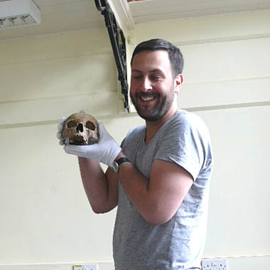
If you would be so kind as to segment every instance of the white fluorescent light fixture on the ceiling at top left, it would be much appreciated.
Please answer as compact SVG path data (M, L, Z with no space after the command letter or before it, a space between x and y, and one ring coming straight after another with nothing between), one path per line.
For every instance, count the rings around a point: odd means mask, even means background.
M41 11L32 0L0 0L0 30L41 23Z

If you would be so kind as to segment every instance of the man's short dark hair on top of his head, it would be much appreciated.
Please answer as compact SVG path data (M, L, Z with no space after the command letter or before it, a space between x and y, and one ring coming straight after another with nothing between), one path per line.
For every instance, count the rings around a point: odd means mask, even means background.
M160 38L154 38L149 41L143 41L139 43L138 45L136 45L136 48L134 49L134 52L132 54L131 65L134 56L144 50L166 50L171 61L173 77L176 77L178 74L182 73L184 65L183 55L180 50L175 47L175 45L173 45L171 42L165 41Z

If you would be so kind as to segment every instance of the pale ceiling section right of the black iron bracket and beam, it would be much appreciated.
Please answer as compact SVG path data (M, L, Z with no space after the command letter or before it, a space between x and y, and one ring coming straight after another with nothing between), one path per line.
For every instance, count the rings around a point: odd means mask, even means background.
M146 0L129 3L134 23L269 9L269 0Z

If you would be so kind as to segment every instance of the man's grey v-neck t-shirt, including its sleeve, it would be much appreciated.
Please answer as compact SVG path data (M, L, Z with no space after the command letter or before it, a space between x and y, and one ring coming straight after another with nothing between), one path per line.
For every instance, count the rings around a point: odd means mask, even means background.
M145 133L146 126L139 126L124 139L122 151L131 163L149 179L155 159L174 162L185 168L194 182L171 220L152 226L126 197L119 181L113 242L115 269L200 269L212 174L207 127L195 114L180 110L161 126L147 145Z

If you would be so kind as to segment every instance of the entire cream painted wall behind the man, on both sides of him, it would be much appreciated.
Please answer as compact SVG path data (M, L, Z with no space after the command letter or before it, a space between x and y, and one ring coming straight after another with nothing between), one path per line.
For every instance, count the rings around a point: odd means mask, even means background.
M159 37L183 51L179 106L205 120L215 151L205 257L227 258L229 270L270 265L269 15L137 25L128 44ZM0 269L112 270L115 210L92 213L77 160L55 138L58 119L82 108L119 143L143 124L119 106L107 31L1 42L0 100Z

